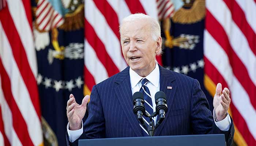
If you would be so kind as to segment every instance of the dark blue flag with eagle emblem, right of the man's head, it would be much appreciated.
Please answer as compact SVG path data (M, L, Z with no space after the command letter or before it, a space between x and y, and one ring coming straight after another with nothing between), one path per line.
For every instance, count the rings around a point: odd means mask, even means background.
M176 1L173 1L177 5ZM162 19L163 66L196 78L206 94L210 110L213 99L204 88L203 32L205 1L184 1L168 19ZM178 5L180 6L180 5Z

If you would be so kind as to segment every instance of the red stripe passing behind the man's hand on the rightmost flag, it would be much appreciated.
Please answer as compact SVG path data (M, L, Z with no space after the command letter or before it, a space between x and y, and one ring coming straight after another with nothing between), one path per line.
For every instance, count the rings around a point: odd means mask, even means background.
M227 87L230 89L230 87L227 85L226 81L222 77L222 75L218 72L218 70L214 67L214 65L211 64L211 62L207 59L207 57L204 56L205 61L205 73L209 75L209 77L212 79L212 81L217 84L218 82L222 83L222 87ZM233 93L231 93L233 96L235 96ZM236 124L237 129L241 133L242 138L246 141L248 145L255 145L256 141L252 137L250 131L248 130L248 126L245 123L245 120L242 118L241 114L236 110L236 107L233 105L233 96L231 97L231 104L230 108L232 111L232 119ZM237 131L236 131L237 132ZM236 134L236 133L235 133ZM244 136L246 135L246 136ZM254 143L254 144L253 144Z

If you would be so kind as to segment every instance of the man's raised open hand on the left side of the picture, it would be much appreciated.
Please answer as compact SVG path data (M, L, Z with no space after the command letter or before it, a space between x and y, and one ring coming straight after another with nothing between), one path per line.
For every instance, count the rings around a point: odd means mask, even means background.
M82 119L86 112L86 105L90 99L89 95L83 98L82 104L76 103L73 94L69 95L69 100L67 102L67 117L69 122L69 130L79 130L82 127Z

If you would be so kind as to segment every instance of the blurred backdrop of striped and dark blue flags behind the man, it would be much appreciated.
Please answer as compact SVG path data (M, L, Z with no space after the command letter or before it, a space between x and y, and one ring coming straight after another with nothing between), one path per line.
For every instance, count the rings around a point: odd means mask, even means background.
M231 92L234 145L256 145L256 0L0 0L0 146L65 146L66 104L123 70L118 27L159 20L160 65Z

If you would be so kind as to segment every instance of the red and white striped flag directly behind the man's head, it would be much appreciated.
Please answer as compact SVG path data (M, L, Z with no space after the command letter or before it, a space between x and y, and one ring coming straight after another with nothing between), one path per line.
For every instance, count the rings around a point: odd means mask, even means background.
M155 0L85 0L85 94L93 85L127 67L120 45L119 24L126 16L144 13L158 19ZM161 57L157 57L162 64Z

